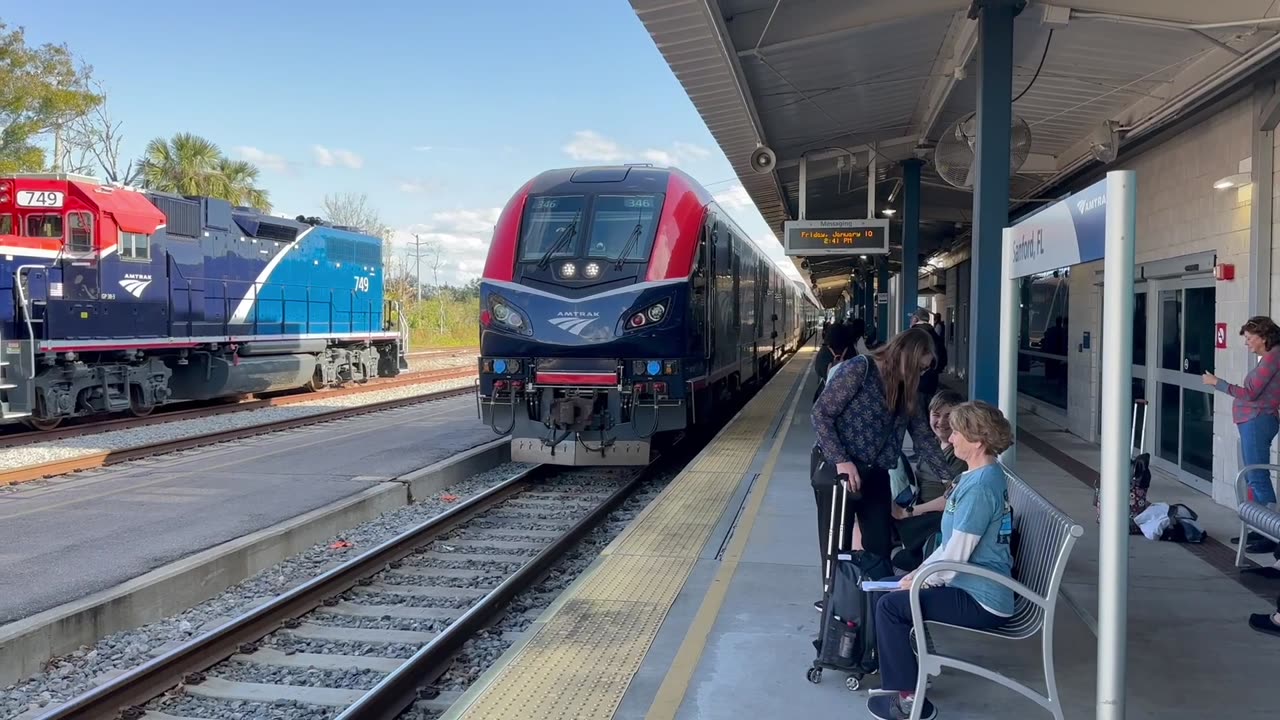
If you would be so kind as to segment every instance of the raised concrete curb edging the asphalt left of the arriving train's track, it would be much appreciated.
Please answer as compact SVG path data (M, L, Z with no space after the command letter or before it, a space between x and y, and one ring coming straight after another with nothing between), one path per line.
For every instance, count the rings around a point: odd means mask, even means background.
M498 438L256 533L210 547L113 588L0 626L0 688L49 659L198 605L334 534L403 507L511 456Z

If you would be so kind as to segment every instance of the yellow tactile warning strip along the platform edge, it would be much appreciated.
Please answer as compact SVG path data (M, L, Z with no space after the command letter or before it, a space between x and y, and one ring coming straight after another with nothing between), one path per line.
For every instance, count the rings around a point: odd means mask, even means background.
M458 720L613 717L778 409L795 410L788 396L810 352L803 348L605 548Z

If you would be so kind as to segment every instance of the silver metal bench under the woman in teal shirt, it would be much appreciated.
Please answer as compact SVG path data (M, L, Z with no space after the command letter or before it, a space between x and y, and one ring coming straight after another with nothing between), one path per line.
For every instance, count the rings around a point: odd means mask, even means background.
M927 691L929 676L940 675L942 667L955 667L979 675L1028 697L1044 710L1062 720L1062 702L1057 693L1057 680L1053 674L1053 614L1057 607L1057 591L1066 571L1066 560L1071 555L1075 541L1084 534L1084 528L1066 514L1039 496L1009 468L1001 464L1009 479L1009 503L1014 509L1014 528L1018 532L1018 555L1014 557L1016 580L1005 578L986 568L968 562L931 562L920 568L911 582L911 620L913 638L925 635L924 647L915 642L919 660L919 676L915 685L916 702L911 710L911 720L920 720L924 703L920 702ZM1014 591L1014 615L1009 623L995 630L974 630L959 628L970 633L1020 641L1041 633L1041 650L1044 664L1044 687L1048 694L1039 692L993 670L966 662L964 660L940 655L933 650L928 626L920 612L920 588L934 573L966 573L988 578ZM928 621L932 625L951 626L945 623ZM924 632L919 630L924 628Z

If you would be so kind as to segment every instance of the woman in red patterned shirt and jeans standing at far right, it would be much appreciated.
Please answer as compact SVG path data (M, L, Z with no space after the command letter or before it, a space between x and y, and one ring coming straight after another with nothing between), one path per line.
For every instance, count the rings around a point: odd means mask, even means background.
M1265 315L1249 318L1240 327L1249 352L1261 356L1258 364L1244 375L1243 384L1230 384L1213 373L1204 373L1204 384L1235 398L1231 402L1231 420L1240 433L1240 455L1245 465L1271 462L1271 441L1280 430L1280 327ZM1276 492L1267 470L1249 470L1249 489L1253 501L1275 507ZM1245 552L1274 552L1276 543L1257 534L1236 538L1245 543Z

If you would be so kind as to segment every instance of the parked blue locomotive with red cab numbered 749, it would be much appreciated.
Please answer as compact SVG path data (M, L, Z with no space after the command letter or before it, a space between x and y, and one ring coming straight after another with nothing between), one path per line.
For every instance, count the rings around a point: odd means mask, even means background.
M67 174L0 177L0 416L396 375L381 240Z

